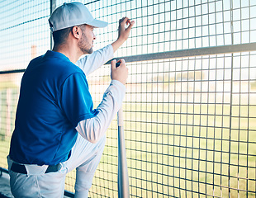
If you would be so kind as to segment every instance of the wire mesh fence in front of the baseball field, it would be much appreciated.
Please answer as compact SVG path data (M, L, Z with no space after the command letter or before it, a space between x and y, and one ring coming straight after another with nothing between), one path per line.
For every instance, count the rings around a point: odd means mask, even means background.
M1 167L7 167L14 127L22 75L16 70L50 49L51 2L0 2ZM135 20L130 39L115 54L126 57L130 71L123 105L130 196L255 197L256 2L80 2L109 22L96 30L96 49L116 40L121 17ZM94 106L109 73L106 64L88 76ZM66 190L73 191L74 181L70 172ZM116 120L90 196L117 196Z

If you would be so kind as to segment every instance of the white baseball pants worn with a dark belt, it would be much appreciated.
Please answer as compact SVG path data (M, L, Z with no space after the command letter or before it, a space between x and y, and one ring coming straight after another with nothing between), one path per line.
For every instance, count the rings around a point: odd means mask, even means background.
M75 197L88 197L88 191L92 186L92 178L97 165L102 157L106 136L103 136L96 144L88 142L78 134L69 160L61 163L58 172L45 174L48 166L27 165L27 174L12 172L12 159L7 157L10 174L10 186L15 197L50 197L64 196L64 182L68 172L76 168Z

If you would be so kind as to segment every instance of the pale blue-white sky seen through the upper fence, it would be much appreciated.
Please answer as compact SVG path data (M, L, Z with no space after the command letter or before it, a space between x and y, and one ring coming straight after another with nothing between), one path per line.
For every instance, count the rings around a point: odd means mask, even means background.
M57 6L63 2L57 1ZM109 22L107 28L95 31L95 50L116 40L117 22L122 16L135 20L130 39L115 54L117 57L256 42L254 0L80 2L88 4L97 19ZM0 69L26 68L32 45L36 45L37 55L50 50L50 1L5 0L0 7ZM250 63L254 60L255 55L251 55ZM255 64L248 63L245 60L241 67L254 71Z

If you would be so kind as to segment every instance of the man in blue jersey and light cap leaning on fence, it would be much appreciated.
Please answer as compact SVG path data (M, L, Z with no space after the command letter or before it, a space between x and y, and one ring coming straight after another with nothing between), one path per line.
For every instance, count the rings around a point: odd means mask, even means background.
M49 22L54 48L31 60L21 80L7 157L11 190L16 197L62 197L65 176L76 168L75 197L88 197L128 70L123 59L118 68L111 61L111 84L95 110L86 75L112 58L134 21L121 19L118 39L94 53L93 29L107 23L94 19L83 3L64 3ZM83 54L91 55L78 60Z

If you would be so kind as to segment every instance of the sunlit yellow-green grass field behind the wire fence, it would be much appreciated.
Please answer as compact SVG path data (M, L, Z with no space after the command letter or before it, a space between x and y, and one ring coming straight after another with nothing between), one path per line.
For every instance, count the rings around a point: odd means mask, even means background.
M232 106L231 120L227 105L137 103L124 111L132 197L229 197L229 182L231 197L255 197L255 106ZM91 197L117 197L116 121L107 136ZM9 141L0 142L5 168ZM74 177L67 176L69 191Z

